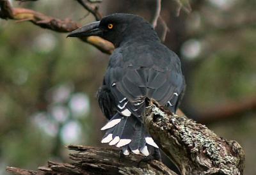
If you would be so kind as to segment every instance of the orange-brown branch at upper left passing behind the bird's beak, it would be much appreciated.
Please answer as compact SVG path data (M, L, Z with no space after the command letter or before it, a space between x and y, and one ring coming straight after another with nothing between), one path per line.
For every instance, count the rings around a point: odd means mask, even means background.
M36 26L51 29L52 31L57 31L60 33L67 33L81 27L81 24L77 24L70 19L60 20L44 15L38 11L33 11L26 8L12 8L8 0L0 0L0 8L0 18L2 19L13 19L17 20L17 22L30 21ZM113 52L115 49L112 43L98 36L84 37L80 39L97 47L97 49L106 54L111 54L111 52Z

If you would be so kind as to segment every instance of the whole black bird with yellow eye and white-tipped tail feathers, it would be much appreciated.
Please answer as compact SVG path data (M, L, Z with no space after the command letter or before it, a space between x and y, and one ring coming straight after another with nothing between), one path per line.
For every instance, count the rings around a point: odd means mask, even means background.
M101 142L122 148L124 155L152 155L158 146L141 114L150 100L176 112L185 89L179 57L137 15L115 13L68 36L100 36L115 45L98 93L100 108L109 119L101 128L106 130Z

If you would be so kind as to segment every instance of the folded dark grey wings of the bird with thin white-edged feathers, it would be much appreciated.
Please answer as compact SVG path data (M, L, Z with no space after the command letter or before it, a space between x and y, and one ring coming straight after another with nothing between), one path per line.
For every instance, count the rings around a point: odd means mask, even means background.
M111 57L105 80L115 97L116 110L125 116L140 116L145 109L145 98L149 98L175 112L184 89L179 66L172 65L171 61L159 66L150 56L140 60L141 65L134 60L125 60L120 53Z

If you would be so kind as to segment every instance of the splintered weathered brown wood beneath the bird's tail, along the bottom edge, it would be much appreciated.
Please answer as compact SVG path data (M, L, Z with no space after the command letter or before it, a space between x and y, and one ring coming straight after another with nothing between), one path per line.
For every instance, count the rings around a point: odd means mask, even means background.
M74 161L70 164L48 162L47 167L38 167L38 171L28 171L15 167L7 167L6 170L15 174L170 174L177 175L163 163L154 160L150 163L138 162L143 158L140 155L120 157L120 150L108 148L92 148L88 146L68 146L68 149L76 151L70 153Z

